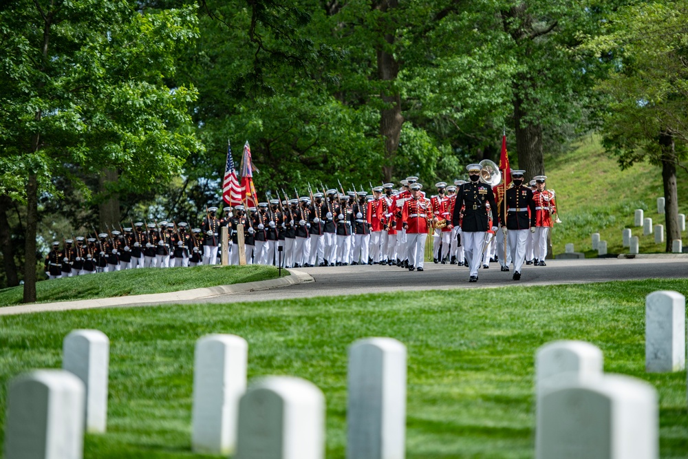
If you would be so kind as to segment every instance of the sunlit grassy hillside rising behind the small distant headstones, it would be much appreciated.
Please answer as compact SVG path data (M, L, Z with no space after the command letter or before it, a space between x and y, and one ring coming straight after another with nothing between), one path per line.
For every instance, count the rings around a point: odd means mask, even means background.
M547 187L557 193L562 221L552 231L554 253L563 253L564 246L572 242L577 252L596 256L592 233L600 233L601 239L607 241L608 253L628 253L628 248L622 247L623 228L631 228L633 235L640 238L641 253L665 252L665 243L655 244L654 235L643 236L642 226L633 226L635 209L643 209L653 225L665 225L665 216L657 213L657 198L664 195L660 167L642 163L622 171L616 158L605 153L595 137L575 147L568 153L545 158ZM688 212L688 175L681 170L678 211Z

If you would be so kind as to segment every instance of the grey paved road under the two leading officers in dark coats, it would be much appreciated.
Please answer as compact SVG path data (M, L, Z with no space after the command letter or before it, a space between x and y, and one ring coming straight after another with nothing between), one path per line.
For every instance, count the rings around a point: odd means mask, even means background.
M342 266L336 268L303 268L315 282L281 287L260 292L220 295L203 300L179 303L235 303L237 301L270 301L277 299L352 295L357 293L391 292L449 288L501 287L552 284L584 284L590 282L650 279L654 277L688 277L687 259L585 259L552 260L547 266L523 267L521 281L513 281L513 273L502 273L499 264L481 269L480 280L469 284L468 268L455 265L426 264L422 273L396 266ZM131 305L130 305L131 306Z

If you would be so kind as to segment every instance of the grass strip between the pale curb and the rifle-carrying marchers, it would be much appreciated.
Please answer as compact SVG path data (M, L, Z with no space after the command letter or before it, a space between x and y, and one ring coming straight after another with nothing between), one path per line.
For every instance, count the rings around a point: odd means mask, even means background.
M283 275L288 271L282 270ZM191 268L141 268L98 273L36 283L39 303L146 293L178 292L192 288L275 279L275 266L193 266ZM21 303L23 287L0 290L0 306Z

